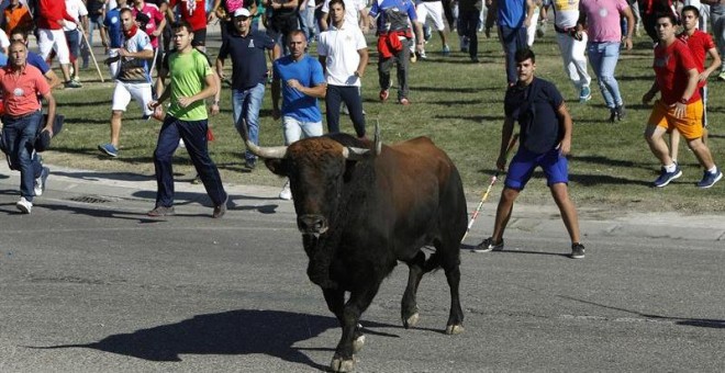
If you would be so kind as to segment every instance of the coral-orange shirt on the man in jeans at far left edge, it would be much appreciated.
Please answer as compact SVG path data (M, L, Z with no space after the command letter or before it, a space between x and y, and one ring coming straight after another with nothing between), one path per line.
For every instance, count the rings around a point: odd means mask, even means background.
M41 110L37 97L49 93L51 86L34 66L25 65L19 75L5 66L0 69L0 92L5 113L20 116Z

